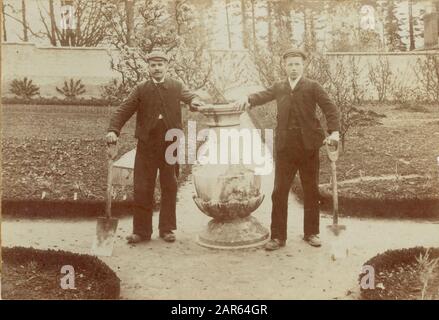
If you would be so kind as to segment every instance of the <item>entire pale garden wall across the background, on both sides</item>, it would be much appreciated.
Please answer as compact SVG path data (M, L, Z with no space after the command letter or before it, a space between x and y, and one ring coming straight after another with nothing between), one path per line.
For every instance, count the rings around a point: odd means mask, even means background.
M216 52L216 54L221 53ZM223 63L234 57L230 50L226 51ZM242 50L235 52L241 55ZM418 90L420 81L415 74L417 61L425 60L427 56L439 56L439 51L416 51L400 53L373 53L373 52L340 52L327 53L326 57L331 66L338 60L343 61L349 72L349 59L354 59L360 71L358 85L364 91L364 98L376 100L378 93L369 79L370 66L378 66L380 62L388 61L392 77L388 80L390 87L395 84L399 91L407 92L406 89ZM247 61L248 63L248 61ZM248 64L245 63L246 66ZM231 63L232 65L233 63ZM252 65L252 64L250 64ZM236 66L232 66L236 69ZM225 70L214 66L215 74L220 78L227 74ZM250 67L251 68L251 67ZM235 70L236 71L236 70ZM255 79L255 70L248 71ZM317 70L318 74L318 70ZM241 75L242 76L242 75ZM11 96L9 93L10 82L19 78L28 77L40 86L40 94L43 97L62 97L56 86L62 87L64 80L70 78L81 79L86 86L84 97L99 98L100 87L108 83L112 78L119 78L119 74L110 68L110 58L105 48L62 48L62 47L39 47L30 43L3 43L2 44L2 96ZM247 77L246 77L247 78ZM224 79L223 79L224 80ZM234 82L227 79L228 82ZM319 79L316 79L319 80ZM393 80L393 81L392 81ZM225 89L225 88L224 88ZM398 91L398 90L397 90ZM422 95L422 92L419 91ZM394 93L391 88L387 92L387 99L392 100Z

